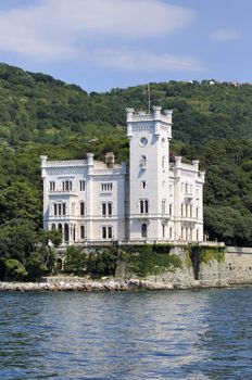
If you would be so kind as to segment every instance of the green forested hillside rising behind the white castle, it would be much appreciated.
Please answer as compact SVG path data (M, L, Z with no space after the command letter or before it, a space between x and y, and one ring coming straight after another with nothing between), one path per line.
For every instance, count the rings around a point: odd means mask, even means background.
M153 105L174 110L172 152L199 157L206 172L210 238L251 245L252 86L205 80L150 88ZM0 64L0 264L14 257L24 265L18 270L29 271L30 249L45 242L45 237L27 241L22 257L10 248L18 228L38 235L41 227L39 155L80 159L92 151L103 159L113 150L118 162L127 161L125 107L146 110L147 98L147 86L88 94L51 76ZM36 265L48 268L45 262Z

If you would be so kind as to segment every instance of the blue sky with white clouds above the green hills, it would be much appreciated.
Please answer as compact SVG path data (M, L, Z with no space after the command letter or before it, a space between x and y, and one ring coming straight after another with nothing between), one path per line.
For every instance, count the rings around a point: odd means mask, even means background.
M0 62L91 91L251 83L251 0L0 0Z

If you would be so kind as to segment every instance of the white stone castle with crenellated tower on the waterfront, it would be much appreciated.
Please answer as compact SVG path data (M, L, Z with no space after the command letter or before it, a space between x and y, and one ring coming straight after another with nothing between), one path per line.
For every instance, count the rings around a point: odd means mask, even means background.
M68 244L203 241L204 173L199 161L169 159L172 111L127 109L129 170L87 160L41 156L43 228L61 230Z

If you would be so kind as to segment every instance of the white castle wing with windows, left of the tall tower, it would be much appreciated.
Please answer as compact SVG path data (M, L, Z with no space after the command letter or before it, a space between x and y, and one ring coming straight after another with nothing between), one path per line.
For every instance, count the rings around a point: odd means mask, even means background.
M42 156L41 167L46 229L52 229L52 226L59 229L61 225L65 235L64 226L67 225L70 237L65 243L125 240L125 165L108 168L89 154L87 161L72 162L47 162ZM85 190L80 190L80 180L85 181ZM72 187L63 190L63 181L71 181ZM50 182L54 182L53 190L50 190ZM65 212L62 207L61 215L54 215L55 204L65 204ZM103 215L102 204L105 204L106 215ZM108 204L111 204L110 212ZM80 236L80 226L85 228L84 237ZM106 231L106 238L102 237L102 227L112 228L110 236Z

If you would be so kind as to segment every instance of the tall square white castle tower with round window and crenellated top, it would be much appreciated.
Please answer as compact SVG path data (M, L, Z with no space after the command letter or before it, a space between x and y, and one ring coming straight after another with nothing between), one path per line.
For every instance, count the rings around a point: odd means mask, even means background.
M129 240L168 239L169 139L172 111L127 109L129 157Z

